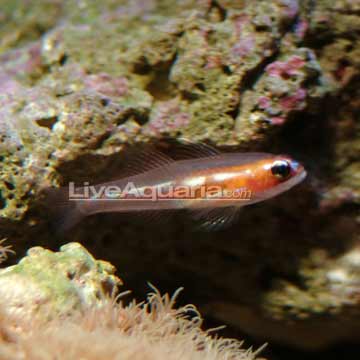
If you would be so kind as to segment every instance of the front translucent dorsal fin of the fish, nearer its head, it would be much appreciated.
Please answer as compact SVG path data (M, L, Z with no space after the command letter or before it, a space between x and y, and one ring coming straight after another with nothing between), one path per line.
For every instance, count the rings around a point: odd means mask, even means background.
M204 143L193 143L187 139L180 139L181 143L174 144L171 156L176 160L196 159L220 155L221 152Z

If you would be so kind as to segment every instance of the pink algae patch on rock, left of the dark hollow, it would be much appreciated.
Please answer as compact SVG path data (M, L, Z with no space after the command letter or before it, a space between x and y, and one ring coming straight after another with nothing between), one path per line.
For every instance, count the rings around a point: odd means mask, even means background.
M84 84L89 89L110 97L121 97L128 92L128 80L125 77L113 78L106 73L89 75Z

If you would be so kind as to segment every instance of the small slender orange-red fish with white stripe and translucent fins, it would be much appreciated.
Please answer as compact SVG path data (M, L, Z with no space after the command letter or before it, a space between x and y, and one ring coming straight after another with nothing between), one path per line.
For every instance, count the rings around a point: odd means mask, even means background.
M286 155L221 153L205 144L186 146L182 159L152 151L129 160L116 181L51 191L57 225L67 230L105 212L190 210L208 230L224 228L238 210L289 190L306 177Z

